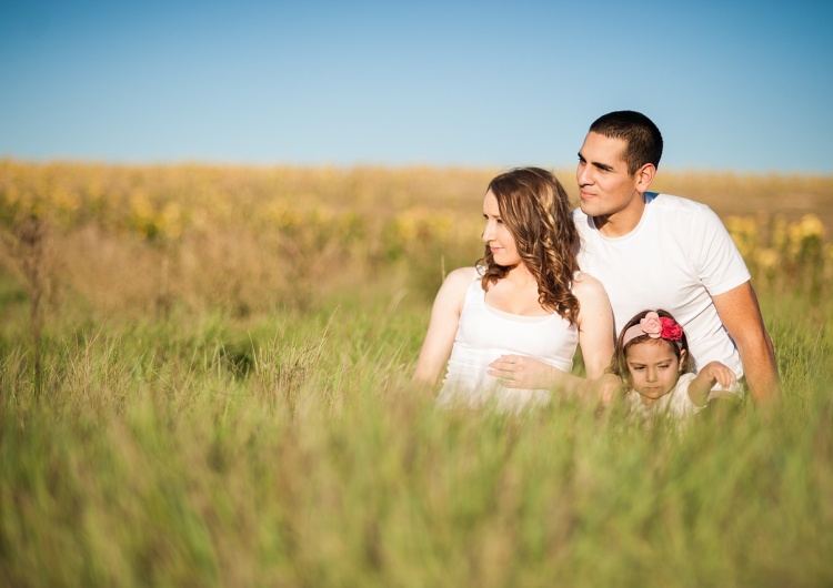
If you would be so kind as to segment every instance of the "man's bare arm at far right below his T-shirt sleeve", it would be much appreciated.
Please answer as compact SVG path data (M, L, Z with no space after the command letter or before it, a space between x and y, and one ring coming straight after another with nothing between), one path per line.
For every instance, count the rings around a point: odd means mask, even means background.
M781 383L775 351L750 282L713 296L717 315L737 345L750 394L756 404L777 403Z

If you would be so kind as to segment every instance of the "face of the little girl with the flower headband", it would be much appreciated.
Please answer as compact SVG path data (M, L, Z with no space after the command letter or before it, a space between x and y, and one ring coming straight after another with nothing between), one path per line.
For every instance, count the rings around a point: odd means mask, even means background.
M650 406L674 389L680 378L680 359L665 339L649 339L628 348L628 369L633 389ZM685 353L684 351L682 353Z

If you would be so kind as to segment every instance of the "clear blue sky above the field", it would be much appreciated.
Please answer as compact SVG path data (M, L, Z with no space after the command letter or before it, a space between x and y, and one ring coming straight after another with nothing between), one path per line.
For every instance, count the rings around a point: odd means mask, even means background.
M0 0L0 156L833 173L833 2ZM662 168L662 166L661 166Z

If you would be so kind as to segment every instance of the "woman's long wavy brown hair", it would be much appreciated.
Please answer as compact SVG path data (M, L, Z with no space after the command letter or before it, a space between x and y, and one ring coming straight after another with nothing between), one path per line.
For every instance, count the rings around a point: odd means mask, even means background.
M541 306L574 324L579 300L572 285L579 262L573 246L579 233L563 186L546 170L518 168L496 176L488 190L498 200L501 219L515 240L519 256L538 281ZM483 290L511 270L494 262L489 244L478 265L485 266Z

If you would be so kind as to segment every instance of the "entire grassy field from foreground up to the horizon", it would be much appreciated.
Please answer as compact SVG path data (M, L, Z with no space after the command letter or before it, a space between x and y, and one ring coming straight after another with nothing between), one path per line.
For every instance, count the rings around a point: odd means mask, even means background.
M409 389L494 173L0 162L0 585L833 585L833 179L661 173L784 387L678 435Z

